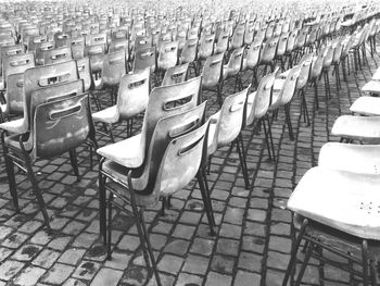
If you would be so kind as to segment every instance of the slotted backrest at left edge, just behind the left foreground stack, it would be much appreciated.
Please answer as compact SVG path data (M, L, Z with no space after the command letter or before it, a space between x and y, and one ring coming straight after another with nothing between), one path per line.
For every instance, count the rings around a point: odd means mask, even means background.
M33 52L28 53L17 53L13 55L8 55L2 59L2 75L4 83L7 84L7 77L12 74L24 73L27 69L35 66L35 54Z

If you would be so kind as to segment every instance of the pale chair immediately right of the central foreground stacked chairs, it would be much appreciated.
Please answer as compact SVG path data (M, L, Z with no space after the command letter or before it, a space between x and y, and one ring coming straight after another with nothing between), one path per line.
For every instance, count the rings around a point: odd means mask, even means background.
M242 126L245 116L246 95L250 86L242 91L228 96L219 111L210 117L207 139L208 173L213 154L219 148L237 145L245 188L250 187L243 146Z

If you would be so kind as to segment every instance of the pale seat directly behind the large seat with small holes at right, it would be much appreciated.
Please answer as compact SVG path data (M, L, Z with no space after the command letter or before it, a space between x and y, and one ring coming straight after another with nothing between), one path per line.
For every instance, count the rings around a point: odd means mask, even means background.
M355 173L380 174L380 146L327 142L319 152L318 166Z

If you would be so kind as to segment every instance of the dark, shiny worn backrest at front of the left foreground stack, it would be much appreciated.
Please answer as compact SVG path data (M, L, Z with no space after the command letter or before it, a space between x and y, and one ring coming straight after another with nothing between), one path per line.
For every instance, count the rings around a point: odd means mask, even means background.
M36 108L33 157L52 158L94 138L88 95L72 96Z

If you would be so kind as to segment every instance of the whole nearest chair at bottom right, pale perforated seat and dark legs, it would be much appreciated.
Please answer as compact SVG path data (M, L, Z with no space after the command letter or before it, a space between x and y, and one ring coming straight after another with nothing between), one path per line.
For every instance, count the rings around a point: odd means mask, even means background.
M288 209L294 213L292 253L282 285L288 285L294 270L296 253L305 240L305 254L296 277L300 285L312 254L332 265L337 254L349 260L351 277L363 277L363 285L370 279L376 284L376 260L379 247L379 192L378 174L358 174L347 171L313 167L302 177L288 200ZM333 241L333 243L332 243ZM333 256L322 256L324 251ZM335 263L334 263L335 262ZM372 284L372 285L373 285Z

